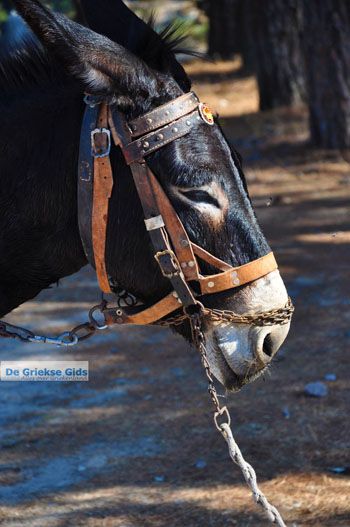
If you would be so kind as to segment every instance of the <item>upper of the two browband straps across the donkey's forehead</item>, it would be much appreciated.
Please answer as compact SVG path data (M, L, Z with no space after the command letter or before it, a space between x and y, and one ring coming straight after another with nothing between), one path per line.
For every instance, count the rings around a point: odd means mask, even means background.
M199 99L193 92L185 93L181 97L174 99L155 110L148 112L142 117L138 117L128 123L132 137L140 137L148 134L166 124L173 123L180 117L193 112L198 108Z

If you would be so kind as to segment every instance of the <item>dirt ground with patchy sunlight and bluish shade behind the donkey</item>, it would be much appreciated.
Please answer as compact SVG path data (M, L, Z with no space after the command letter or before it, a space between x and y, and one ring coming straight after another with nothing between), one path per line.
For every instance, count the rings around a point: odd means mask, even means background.
M296 315L265 379L229 395L235 437L288 526L350 526L350 160L307 147L304 108L257 113L236 63L188 66L242 153ZM98 292L84 269L8 319L57 333ZM89 383L0 384L4 527L259 527L216 432L200 361L167 330L72 352L1 343L2 360L88 360ZM336 375L335 381L325 376ZM322 381L328 394L304 394Z

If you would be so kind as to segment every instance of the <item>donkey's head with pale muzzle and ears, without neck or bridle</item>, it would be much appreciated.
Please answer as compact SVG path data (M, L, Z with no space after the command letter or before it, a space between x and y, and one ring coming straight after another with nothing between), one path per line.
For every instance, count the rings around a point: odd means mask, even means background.
M174 62L167 67L164 55L161 66L151 67L120 44L53 14L37 0L14 3L48 51L77 81L81 94L112 100L127 119L189 90L182 67ZM99 13L103 12L100 2L96 4ZM125 44L125 35L123 38ZM233 266L270 252L252 209L240 159L218 124L198 121L190 134L153 153L147 162L197 245ZM109 274L137 297L153 302L167 294L170 286L154 260L130 171L117 148L112 152L112 164L115 185L108 227ZM202 271L213 272L205 267ZM281 308L287 299L279 272L274 271L247 286L203 297L202 302L216 309L257 313ZM226 387L239 388L271 362L288 329L288 325L208 323L206 338L213 373Z

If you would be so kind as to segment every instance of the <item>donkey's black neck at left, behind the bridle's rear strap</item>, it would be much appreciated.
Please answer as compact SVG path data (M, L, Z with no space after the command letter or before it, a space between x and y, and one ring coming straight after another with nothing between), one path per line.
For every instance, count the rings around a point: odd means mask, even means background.
M57 93L57 89L56 89ZM1 102L0 316L86 264L77 220L80 95Z

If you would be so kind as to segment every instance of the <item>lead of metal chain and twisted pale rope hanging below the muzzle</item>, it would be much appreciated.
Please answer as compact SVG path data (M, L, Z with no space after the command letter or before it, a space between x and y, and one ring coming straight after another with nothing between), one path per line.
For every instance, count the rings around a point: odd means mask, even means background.
M232 461L236 463L241 469L244 479L248 487L252 491L254 501L264 509L271 523L278 525L278 527L286 527L286 524L284 523L282 516L280 515L276 507L269 503L264 493L259 489L255 470L249 463L245 461L242 452L233 437L231 430L230 412L227 406L221 406L220 404L214 384L214 379L210 370L205 345L205 336L202 331L202 314L195 313L191 315L190 324L193 343L200 353L205 374L208 379L208 392L215 408L215 426L226 440L229 448L230 457Z

